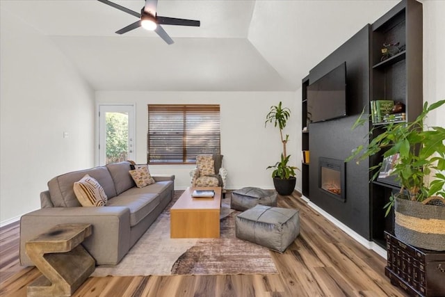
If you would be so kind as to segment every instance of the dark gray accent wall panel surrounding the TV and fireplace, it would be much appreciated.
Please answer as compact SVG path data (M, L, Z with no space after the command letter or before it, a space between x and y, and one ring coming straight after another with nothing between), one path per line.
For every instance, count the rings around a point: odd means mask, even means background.
M346 61L346 118L309 124L309 199L358 234L370 239L369 161L346 163L346 202L333 199L318 188L318 157L346 159L364 141L369 123L351 131L350 127L366 106L369 108L369 50L371 26L366 25L309 72L309 84Z

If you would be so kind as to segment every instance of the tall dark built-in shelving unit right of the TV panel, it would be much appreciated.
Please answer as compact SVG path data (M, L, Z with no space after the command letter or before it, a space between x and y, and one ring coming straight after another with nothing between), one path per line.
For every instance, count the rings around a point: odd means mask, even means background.
M414 120L423 104L422 79L422 4L405 0L372 24L371 31L371 100L394 100L405 104L406 120ZM405 45L400 53L381 61L383 44ZM372 126L371 126L372 127ZM373 137L384 131L385 125L373 126ZM370 159L370 166L382 161L382 154ZM400 187L379 179L370 187L371 239L386 248L385 231L394 230L394 213L385 217L383 207L391 193Z

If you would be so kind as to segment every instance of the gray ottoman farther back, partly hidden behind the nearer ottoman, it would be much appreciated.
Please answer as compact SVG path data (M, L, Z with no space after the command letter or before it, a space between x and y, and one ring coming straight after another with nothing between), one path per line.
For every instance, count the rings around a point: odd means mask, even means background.
M277 193L270 193L261 188L248 186L232 192L232 200L230 200L230 208L239 211L245 211L257 204L268 205L270 207L277 206Z

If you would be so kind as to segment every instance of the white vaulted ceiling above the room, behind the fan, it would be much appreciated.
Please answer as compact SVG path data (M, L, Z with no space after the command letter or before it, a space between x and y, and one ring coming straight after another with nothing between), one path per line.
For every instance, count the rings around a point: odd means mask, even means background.
M114 1L136 12L143 0ZM136 17L95 0L1 0L72 61L95 90L297 90L309 70L398 1L159 0L200 27L114 32ZM8 25L1 23L2 26ZM31 45L32 46L32 45Z

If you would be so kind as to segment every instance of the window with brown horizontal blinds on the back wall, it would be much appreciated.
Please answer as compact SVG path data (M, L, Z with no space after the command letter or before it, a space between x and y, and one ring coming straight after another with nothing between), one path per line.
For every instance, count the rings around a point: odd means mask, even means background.
M148 105L147 163L195 163L220 154L219 105Z

